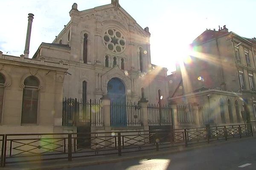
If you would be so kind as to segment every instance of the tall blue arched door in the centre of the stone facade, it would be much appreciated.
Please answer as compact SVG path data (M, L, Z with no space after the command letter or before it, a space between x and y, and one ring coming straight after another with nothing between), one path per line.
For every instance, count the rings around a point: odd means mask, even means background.
M126 126L125 85L115 77L108 82L107 89L111 102L111 126Z

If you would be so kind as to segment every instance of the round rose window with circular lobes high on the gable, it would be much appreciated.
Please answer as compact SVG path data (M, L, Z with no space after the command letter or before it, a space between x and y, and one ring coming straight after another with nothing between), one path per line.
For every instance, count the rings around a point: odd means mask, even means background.
M125 38L122 33L114 28L105 31L103 37L106 47L113 53L121 53L125 49Z

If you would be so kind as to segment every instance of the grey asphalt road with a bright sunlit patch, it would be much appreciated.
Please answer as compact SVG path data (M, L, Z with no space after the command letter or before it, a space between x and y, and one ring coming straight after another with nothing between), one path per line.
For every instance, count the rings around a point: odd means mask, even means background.
M68 170L256 170L256 139L236 140L143 160Z

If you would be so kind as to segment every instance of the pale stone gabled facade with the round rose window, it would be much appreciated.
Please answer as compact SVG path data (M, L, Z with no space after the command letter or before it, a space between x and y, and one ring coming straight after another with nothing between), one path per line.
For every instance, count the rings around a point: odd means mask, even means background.
M87 99L99 99L108 94L109 80L119 78L127 101L139 101L144 88L145 98L157 103L158 90L163 101L168 98L167 69L151 64L149 38L148 28L141 28L118 1L84 11L74 4L67 26L51 44L42 43L33 58L67 63L64 97L86 93Z

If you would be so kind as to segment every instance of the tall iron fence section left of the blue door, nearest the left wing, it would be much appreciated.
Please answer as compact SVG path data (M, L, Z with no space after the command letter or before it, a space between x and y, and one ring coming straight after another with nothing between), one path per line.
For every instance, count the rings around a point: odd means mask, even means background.
M73 126L78 123L90 123L91 126L103 126L102 101L82 99L63 99L62 125Z

